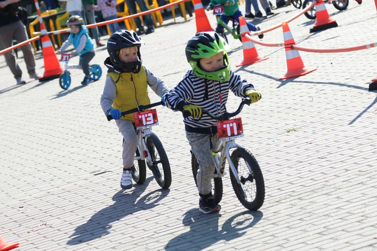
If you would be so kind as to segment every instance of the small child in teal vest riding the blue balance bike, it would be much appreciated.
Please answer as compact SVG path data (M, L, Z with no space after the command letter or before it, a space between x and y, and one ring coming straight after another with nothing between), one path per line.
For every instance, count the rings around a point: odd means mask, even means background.
M80 16L72 16L67 21L67 26L71 29L71 34L66 41L61 45L58 50L58 54L61 54L70 44L75 47L75 50L71 52L72 56L80 55L80 65L83 68L85 74L84 80L81 84L92 83L90 78L89 62L95 55L94 44L92 38L88 35L88 30L84 26L84 20Z

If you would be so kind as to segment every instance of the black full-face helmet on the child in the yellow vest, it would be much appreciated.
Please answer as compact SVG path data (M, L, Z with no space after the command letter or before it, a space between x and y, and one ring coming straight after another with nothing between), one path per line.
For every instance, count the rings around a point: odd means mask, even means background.
M110 61L113 66L121 70L121 72L138 73L141 69L140 46L143 41L139 38L136 32L127 30L120 30L111 34L109 40L107 40L107 52L110 55ZM118 58L117 51L123 48L137 46L138 47L138 61L132 63L126 63Z

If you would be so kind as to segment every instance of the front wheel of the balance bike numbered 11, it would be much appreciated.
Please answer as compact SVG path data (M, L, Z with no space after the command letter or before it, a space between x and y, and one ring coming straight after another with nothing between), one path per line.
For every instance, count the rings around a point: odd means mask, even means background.
M238 184L229 168L234 193L245 208L251 211L258 210L263 205L265 195L264 179L258 162L245 148L234 150L231 161L241 180L241 184Z

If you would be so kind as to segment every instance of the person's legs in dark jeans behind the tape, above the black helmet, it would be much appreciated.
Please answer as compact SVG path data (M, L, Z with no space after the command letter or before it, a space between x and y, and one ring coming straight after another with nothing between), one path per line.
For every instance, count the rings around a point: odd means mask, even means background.
M141 11L148 11L149 10L145 0L125 0L125 2L127 4L127 7L129 9L131 15L137 13L135 3L138 3L138 6L139 6ZM144 15L143 17L144 17L144 24L146 24L146 26L148 27L147 31L144 31L144 26L141 24L140 17L133 18L133 20L135 20L137 28L139 29L139 31L137 32L138 35L142 35L144 33L149 34L149 33L152 33L152 32L155 31L154 26L153 26L152 15L147 14L147 15Z

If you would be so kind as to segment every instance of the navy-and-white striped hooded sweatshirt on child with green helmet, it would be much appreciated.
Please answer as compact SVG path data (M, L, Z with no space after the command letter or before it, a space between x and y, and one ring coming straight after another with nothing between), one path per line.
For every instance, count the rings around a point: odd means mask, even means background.
M187 71L181 82L179 82L165 96L165 104L174 111L183 111L185 105L196 105L220 116L226 112L225 105L228 100L228 93L231 90L234 95L243 97L248 89L254 86L241 80L241 77L230 72L229 80L219 82L196 76L192 70ZM217 133L216 120L203 114L201 119L184 118L185 130L201 134L214 135Z

